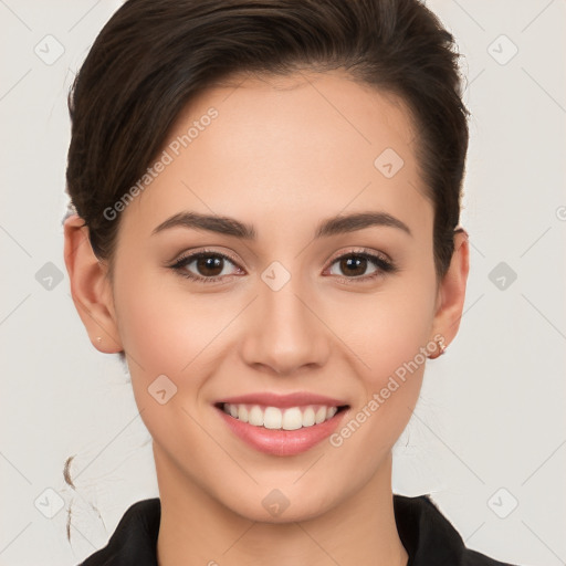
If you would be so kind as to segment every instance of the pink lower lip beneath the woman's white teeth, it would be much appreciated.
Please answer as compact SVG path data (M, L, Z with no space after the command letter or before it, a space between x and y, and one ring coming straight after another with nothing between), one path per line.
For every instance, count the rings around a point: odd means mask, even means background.
M272 430L243 422L214 407L232 432L255 450L273 455L294 455L306 452L329 437L340 423L348 409L343 409L331 419L296 430Z

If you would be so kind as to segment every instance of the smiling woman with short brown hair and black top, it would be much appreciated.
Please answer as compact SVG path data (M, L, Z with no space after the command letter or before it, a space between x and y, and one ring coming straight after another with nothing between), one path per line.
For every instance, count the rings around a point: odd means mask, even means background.
M129 0L103 29L65 262L159 499L83 564L503 564L391 491L464 303L457 61L415 0Z

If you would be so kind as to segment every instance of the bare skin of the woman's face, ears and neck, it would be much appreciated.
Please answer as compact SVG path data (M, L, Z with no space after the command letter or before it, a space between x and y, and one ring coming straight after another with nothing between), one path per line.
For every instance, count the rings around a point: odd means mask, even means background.
M154 439L159 564L407 564L395 524L391 448L417 403L426 364L342 446L326 440L293 457L244 444L212 403L307 390L346 400L355 415L434 335L447 346L455 336L467 234L455 234L450 269L437 281L432 203L398 99L339 71L248 76L237 88L199 95L170 139L211 106L219 116L120 213L112 279L82 221L65 223L77 311L98 350L126 353ZM405 161L390 179L374 166L387 147ZM253 224L256 241L182 227L151 235L184 210ZM376 226L314 239L323 219L376 210L412 235ZM238 260L224 263L220 284L167 266L205 247ZM399 270L353 281L335 260L359 247L387 254ZM273 261L291 275L279 291L261 279ZM376 269L368 262L361 275ZM210 273L196 262L185 270ZM147 388L164 374L178 389L160 405ZM274 489L289 502L277 516L262 505Z

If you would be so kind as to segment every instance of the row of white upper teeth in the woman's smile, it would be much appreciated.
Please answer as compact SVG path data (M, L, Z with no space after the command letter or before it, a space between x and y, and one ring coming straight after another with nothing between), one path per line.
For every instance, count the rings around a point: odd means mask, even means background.
M302 427L319 424L332 419L338 411L337 407L324 405L308 405L307 407L265 407L259 405L223 403L223 410L231 417L248 422L254 427L264 427L272 430L297 430Z

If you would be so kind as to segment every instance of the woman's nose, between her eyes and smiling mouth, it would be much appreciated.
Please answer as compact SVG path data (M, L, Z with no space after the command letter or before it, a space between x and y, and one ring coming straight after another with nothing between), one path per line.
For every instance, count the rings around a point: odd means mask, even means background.
M332 333L324 315L293 282L292 277L279 291L262 284L251 305L241 353L256 369L292 375L303 367L322 367L328 359Z

